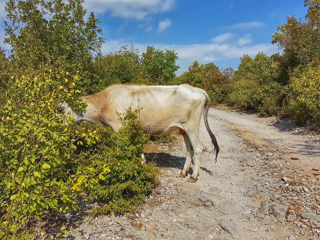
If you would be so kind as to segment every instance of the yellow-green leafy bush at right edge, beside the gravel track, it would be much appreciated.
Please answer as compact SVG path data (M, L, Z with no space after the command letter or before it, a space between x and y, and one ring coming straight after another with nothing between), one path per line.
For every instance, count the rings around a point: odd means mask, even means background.
M288 85L287 113L299 124L320 126L320 65L309 63L297 67Z

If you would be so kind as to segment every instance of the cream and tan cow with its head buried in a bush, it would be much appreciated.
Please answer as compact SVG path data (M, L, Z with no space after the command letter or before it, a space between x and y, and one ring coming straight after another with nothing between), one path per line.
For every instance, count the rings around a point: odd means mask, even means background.
M138 120L142 124L142 130L151 135L162 136L179 130L182 134L187 157L183 170L179 177L186 177L191 160L194 160L194 171L188 182L195 183L199 176L200 162L204 152L204 146L199 136L201 117L212 140L215 160L219 153L216 137L211 132L208 124L208 111L210 99L208 94L189 84L175 86L145 86L145 85L112 85L105 90L83 97L88 106L81 113L69 107L66 103L61 105L64 114L72 115L76 122L95 123L103 127L110 126L118 132L121 122L117 111L126 112L132 104L133 108L140 106Z

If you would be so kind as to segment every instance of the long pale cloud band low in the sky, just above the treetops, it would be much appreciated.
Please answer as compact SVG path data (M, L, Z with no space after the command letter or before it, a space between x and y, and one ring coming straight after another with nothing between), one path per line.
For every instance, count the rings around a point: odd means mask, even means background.
M119 46L119 40L107 41L103 45L103 52L108 53L110 50L114 51L116 47ZM129 41L121 41L122 44L126 43L129 45ZM177 60L178 66L180 69L177 71L177 75L188 71L189 65L193 61L198 60L201 63L208 62L220 62L228 60L239 60L239 57L244 54L249 54L251 57L254 57L258 52L264 52L268 55L278 52L278 48L272 44L255 44L255 45L245 45L240 46L237 44L237 41L230 42L228 44L217 44L217 43L208 43L208 44L192 44L192 45L169 45L169 44L159 44L159 43L135 43L134 47L139 49L139 52L145 52L147 46L154 45L159 49L168 49L175 50L178 53L179 59ZM231 66L236 68L237 66Z

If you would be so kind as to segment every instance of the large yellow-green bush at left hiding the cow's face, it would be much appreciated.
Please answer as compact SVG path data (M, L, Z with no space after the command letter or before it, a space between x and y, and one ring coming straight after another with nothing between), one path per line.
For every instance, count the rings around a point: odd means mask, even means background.
M22 227L40 219L43 210L75 207L70 187L80 176L68 174L66 164L79 133L70 127L74 120L57 109L65 100L84 110L80 92L73 89L77 79L51 70L11 78L0 121L0 238L26 239L32 231ZM95 142L92 133L81 136L86 144Z

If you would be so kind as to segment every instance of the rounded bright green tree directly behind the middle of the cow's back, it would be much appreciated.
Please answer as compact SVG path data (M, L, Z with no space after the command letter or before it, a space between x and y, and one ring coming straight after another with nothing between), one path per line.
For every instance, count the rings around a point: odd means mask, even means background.
M174 50L159 50L154 46L148 46L147 51L142 53L143 76L150 84L167 85L175 78L178 59Z

